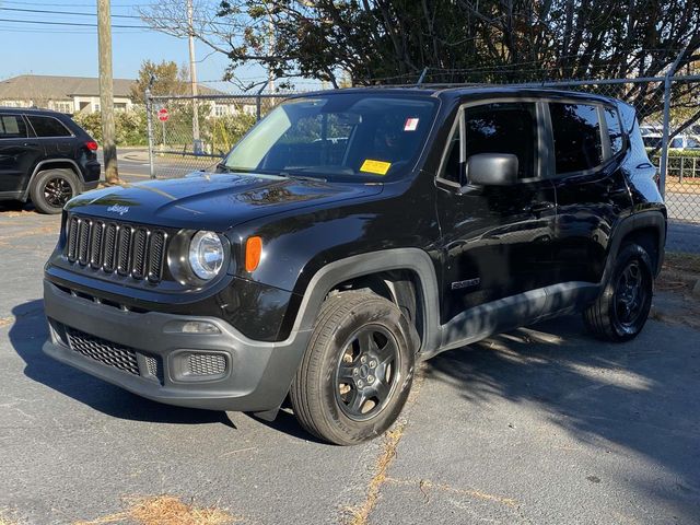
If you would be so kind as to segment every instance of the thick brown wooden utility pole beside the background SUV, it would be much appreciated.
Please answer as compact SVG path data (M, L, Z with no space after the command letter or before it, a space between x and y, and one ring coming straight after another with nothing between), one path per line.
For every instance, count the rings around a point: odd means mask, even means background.
M97 0L97 47L100 51L100 110L102 113L102 151L105 180L119 183L117 144L114 127L114 82L112 79L112 20L109 0Z

